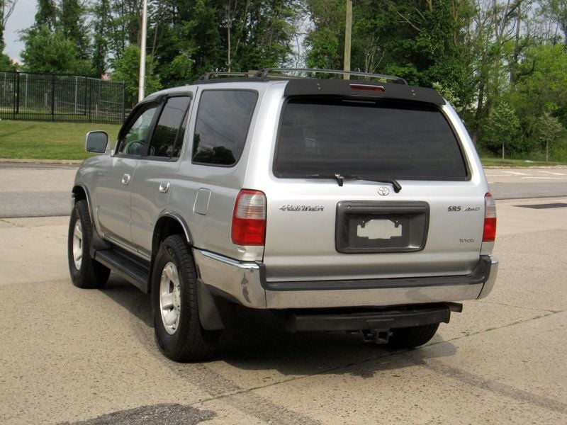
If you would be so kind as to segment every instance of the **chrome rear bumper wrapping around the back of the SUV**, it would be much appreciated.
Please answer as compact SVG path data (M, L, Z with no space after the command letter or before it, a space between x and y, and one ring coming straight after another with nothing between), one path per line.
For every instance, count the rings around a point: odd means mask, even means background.
M494 286L498 260L482 256L466 276L266 282L261 263L193 249L199 277L215 295L260 309L385 307L483 298Z

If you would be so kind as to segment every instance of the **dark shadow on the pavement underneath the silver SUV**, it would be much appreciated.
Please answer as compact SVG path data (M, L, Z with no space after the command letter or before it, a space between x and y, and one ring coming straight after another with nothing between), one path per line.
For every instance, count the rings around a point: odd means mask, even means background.
M157 351L157 347L153 346L150 296L115 275L101 292L135 315L138 325L141 325L137 327L147 333L141 336L149 343L144 345L148 350ZM446 343L434 350L416 348L411 351L411 356L402 356L408 351L394 351L386 346L364 343L361 334L344 331L292 334L265 310L237 308L236 318L237 323L223 332L212 362L223 361L242 370L278 370L283 375L340 375L345 372L337 370L339 368L368 362L374 364L374 370L352 368L348 373L371 378L374 371L408 367L423 363L426 358L452 356L456 352L453 344ZM433 344L440 342L443 339L439 335L432 339ZM192 365L169 363L176 371L184 367L192 369Z

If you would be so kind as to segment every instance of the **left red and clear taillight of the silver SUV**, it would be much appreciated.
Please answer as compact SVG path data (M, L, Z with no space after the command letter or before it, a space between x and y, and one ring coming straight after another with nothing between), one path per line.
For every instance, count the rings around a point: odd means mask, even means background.
M266 196L242 189L232 212L230 237L237 245L264 245L266 236Z

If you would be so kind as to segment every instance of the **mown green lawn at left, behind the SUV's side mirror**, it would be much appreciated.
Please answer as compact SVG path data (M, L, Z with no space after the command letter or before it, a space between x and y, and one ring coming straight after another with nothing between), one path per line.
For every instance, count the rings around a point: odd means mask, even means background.
M86 132L104 130L111 143L120 125L0 120L0 158L85 159Z

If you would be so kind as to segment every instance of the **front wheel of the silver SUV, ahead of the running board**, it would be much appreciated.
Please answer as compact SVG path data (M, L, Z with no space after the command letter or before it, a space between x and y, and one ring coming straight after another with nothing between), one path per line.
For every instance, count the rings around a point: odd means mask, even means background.
M79 200L71 212L67 257L69 273L77 288L102 288L111 271L91 258L93 227L86 200Z

